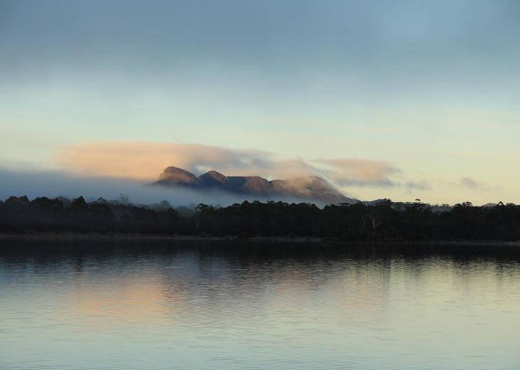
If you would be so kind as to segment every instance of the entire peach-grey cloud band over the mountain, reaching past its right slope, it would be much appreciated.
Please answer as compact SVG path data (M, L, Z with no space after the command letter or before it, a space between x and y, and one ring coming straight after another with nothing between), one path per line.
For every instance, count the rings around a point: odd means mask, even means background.
M176 166L197 176L213 169L227 176L262 176L267 179L319 176L340 188L405 186L408 189L429 189L423 183L393 181L391 176L402 171L387 162L345 158L284 159L254 149L180 142L83 142L61 147L56 158L59 164L78 176L110 176L143 182L155 181L167 166Z

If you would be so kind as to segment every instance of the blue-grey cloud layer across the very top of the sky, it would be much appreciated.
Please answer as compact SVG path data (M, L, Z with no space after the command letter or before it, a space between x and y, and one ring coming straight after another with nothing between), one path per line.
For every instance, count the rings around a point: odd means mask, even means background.
M1 1L0 68L17 82L102 73L218 85L225 75L246 94L253 81L264 93L290 81L305 95L319 74L326 90L359 81L353 97L373 102L366 86L417 94L439 81L509 83L519 10L515 1Z

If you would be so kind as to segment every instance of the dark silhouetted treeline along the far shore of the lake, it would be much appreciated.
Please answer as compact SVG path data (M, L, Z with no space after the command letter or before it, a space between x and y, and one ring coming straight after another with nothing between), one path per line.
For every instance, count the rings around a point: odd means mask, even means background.
M128 198L127 198L128 200ZM443 205L446 206L446 205ZM185 207L184 207L185 208ZM444 207L446 208L446 207ZM520 240L520 206L465 202L449 211L429 204L244 201L219 207L199 204L192 212L167 201L135 206L128 201L11 196L0 201L0 232L131 233L150 235L316 237L338 240Z

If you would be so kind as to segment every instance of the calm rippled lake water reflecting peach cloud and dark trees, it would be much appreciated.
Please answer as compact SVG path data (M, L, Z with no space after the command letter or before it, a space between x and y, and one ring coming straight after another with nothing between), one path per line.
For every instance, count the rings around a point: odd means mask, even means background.
M519 369L518 248L0 239L1 369Z

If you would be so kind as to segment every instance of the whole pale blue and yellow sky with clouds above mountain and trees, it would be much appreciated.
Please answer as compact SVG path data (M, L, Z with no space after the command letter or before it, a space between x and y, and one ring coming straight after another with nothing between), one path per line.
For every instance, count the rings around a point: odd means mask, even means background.
M520 203L519 20L500 0L2 0L0 199L177 166Z

